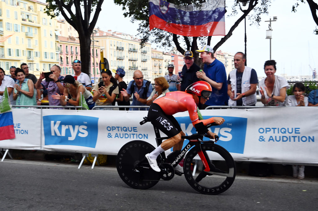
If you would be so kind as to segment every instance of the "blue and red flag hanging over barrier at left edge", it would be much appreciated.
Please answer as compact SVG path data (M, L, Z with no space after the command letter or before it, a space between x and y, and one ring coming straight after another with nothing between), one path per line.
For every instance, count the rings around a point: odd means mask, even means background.
M0 114L0 140L15 138L12 111Z

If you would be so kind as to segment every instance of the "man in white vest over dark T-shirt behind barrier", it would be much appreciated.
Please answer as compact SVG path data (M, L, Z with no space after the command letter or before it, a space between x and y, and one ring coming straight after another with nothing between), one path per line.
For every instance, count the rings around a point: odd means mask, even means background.
M234 67L227 80L229 106L255 106L256 86L258 83L255 69L245 66L246 56L237 52L234 56Z

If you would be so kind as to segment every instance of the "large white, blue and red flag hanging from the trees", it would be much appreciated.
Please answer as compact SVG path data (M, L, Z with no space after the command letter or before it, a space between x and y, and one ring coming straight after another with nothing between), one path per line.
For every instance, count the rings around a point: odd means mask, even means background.
M149 0L149 27L182 36L225 36L225 0L179 6Z

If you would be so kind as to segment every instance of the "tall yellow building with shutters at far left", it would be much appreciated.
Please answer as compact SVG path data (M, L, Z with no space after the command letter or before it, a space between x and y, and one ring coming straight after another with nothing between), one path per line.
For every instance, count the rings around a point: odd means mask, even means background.
M0 66L4 70L27 63L29 72L38 77L58 64L58 24L56 18L44 13L45 5L32 0L0 2L0 38L12 35L0 43Z

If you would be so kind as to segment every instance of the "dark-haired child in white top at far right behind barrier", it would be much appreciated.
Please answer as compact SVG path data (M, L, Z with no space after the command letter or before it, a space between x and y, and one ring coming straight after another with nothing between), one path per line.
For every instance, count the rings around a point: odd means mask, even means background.
M308 97L305 97L305 86L301 82L295 83L293 87L294 95L287 96L286 106L308 106ZM292 165L293 167L293 177L298 179L304 179L305 166Z

